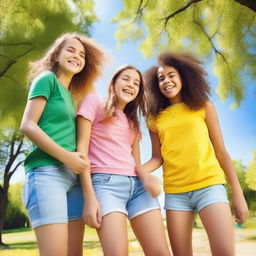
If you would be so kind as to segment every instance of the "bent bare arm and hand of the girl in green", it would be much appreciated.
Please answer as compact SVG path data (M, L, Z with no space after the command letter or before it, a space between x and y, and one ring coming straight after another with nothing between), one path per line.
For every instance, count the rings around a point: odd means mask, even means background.
M88 162L81 153L69 152L55 143L39 126L38 121L46 105L46 98L36 97L27 102L20 130L40 149L80 173L88 168Z

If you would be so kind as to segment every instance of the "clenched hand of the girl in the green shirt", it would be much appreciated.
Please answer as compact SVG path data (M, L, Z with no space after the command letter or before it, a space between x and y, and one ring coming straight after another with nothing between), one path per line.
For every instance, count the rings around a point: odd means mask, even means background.
M80 152L68 152L63 163L74 173L80 174L90 170L90 161Z

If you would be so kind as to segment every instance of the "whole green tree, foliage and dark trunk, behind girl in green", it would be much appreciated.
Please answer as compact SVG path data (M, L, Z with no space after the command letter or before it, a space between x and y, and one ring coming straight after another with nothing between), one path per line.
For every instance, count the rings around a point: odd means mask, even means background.
M9 182L27 145L18 131L27 97L28 63L65 32L89 34L93 0L0 1L0 245Z

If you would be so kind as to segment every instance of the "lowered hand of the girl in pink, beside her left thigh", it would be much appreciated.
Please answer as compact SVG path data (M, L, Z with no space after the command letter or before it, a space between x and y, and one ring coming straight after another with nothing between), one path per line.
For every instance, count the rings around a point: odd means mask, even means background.
M102 217L100 205L96 197L85 200L83 219L88 226L96 229L100 228Z

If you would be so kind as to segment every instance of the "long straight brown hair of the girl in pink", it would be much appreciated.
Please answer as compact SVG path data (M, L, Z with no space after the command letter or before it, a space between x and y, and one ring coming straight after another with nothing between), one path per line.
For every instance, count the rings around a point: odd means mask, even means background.
M114 73L108 87L108 96L104 106L105 113L104 113L103 121L109 120L112 117L116 116L117 101L116 101L116 94L115 94L115 83L119 75L127 69L133 69L139 74L140 86L139 86L139 92L137 97L125 106L124 113L127 115L129 121L131 121L133 129L136 132L140 132L139 116L141 114L145 115L144 83L143 83L143 77L141 72L132 65L124 65Z

